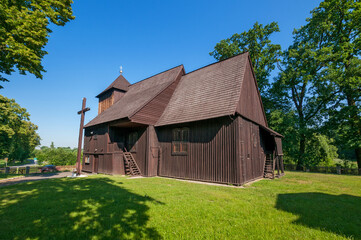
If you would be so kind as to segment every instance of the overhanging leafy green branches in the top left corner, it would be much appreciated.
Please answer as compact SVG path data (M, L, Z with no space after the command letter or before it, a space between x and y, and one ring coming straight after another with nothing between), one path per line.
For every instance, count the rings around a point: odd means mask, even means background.
M41 60L50 23L64 26L74 19L72 0L0 0L0 81L17 68L42 78ZM1 85L0 85L0 88Z

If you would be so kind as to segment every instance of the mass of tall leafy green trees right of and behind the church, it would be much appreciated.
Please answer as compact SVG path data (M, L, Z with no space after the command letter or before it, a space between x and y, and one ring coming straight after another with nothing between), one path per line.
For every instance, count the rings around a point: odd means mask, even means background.
M255 23L210 54L223 60L250 52L269 125L285 135L286 159L327 165L338 147L353 149L361 169L361 2L324 0L283 52L269 40L278 31L277 23Z

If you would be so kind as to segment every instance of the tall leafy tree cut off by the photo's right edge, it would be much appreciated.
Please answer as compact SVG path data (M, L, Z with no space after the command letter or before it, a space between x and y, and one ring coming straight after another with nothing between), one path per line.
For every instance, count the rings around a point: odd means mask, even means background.
M336 129L346 148L354 149L361 168L361 2L325 0L311 13L295 33L308 56L302 70L309 74L307 68L313 66L319 83L315 89L328 87L318 92L330 100L328 126Z

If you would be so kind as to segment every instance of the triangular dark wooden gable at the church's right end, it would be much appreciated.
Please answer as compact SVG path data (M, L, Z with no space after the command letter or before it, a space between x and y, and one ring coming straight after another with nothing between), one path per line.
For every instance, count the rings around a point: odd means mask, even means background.
M256 123L267 126L250 64L247 64L246 67L241 96L236 111Z

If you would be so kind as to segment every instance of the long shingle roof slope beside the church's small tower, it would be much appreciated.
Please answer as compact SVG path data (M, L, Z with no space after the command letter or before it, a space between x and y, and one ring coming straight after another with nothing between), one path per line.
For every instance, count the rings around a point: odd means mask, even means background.
M183 71L183 65L180 65L130 85L123 97L96 116L85 127L130 118L172 84Z

